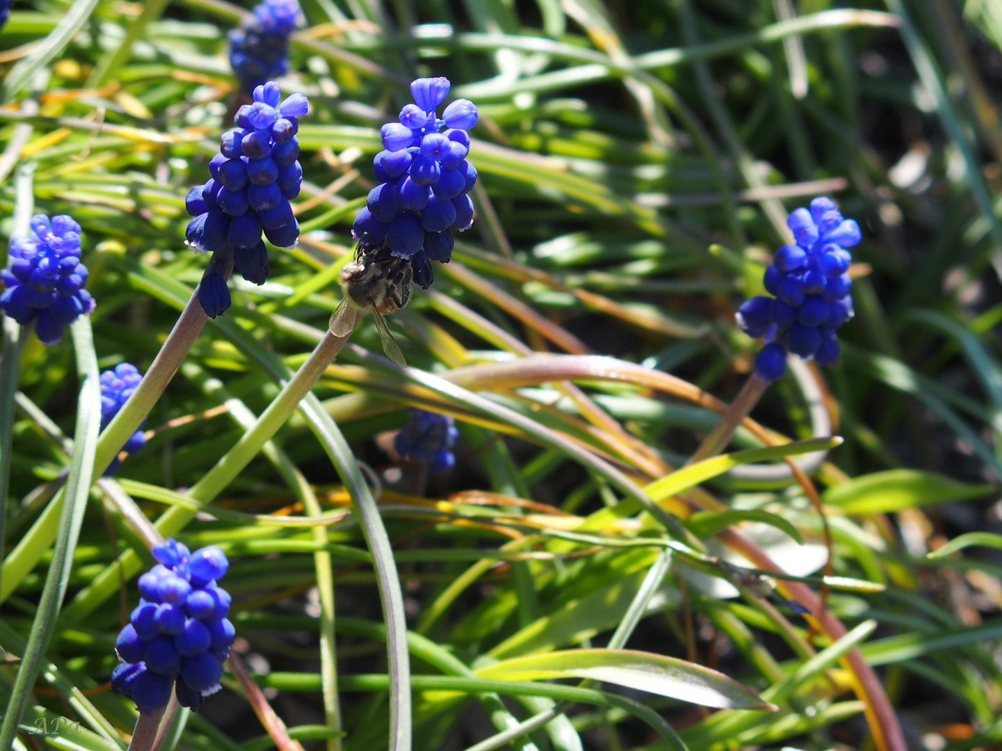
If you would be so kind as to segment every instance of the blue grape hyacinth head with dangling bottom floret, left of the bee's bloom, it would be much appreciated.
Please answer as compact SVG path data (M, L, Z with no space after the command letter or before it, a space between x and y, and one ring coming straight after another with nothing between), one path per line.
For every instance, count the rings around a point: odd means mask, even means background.
M254 104L236 111L236 128L219 139L219 153L208 162L211 177L191 188L185 200L194 217L185 244L196 252L212 252L213 261L219 251L225 257L231 252L236 270L255 284L264 284L269 274L262 233L279 247L292 247L300 237L289 199L300 194L303 183L297 118L309 104L304 94L292 94L280 104L281 96L274 81L254 90ZM212 261L202 276L198 301L213 318L230 305L226 280Z

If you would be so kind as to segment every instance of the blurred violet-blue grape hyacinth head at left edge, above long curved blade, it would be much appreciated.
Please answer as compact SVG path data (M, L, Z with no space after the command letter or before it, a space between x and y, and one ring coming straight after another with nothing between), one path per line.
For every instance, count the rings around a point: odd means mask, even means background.
M94 308L83 288L87 267L80 262L80 225L65 214L35 214L31 236L10 238L11 264L0 269L6 289L0 308L21 325L35 323L44 344L62 338L63 328Z

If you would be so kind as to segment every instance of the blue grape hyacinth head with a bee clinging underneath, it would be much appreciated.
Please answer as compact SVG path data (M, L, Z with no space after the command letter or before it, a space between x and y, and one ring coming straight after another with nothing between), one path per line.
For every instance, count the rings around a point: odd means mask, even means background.
M380 184L370 191L352 227L356 241L385 242L394 255L410 258L414 280L425 289L434 277L430 261L448 263L452 258L452 230L473 224L467 193L477 170L466 159L466 130L476 124L477 108L468 99L457 99L439 118L435 110L449 87L448 78L411 83L416 103L406 105L398 122L388 122L380 131L385 150L373 161Z

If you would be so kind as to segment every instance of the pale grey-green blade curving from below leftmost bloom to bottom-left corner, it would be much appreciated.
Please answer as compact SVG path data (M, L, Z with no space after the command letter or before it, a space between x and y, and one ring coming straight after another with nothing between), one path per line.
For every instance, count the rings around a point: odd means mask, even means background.
M83 524L83 513L87 508L87 497L90 494L94 451L101 422L99 373L97 357L94 354L90 316L83 315L77 318L70 325L70 330L73 334L77 374L80 379L73 462L70 465L66 485L60 494L66 500L62 504L52 561L45 577L45 586L31 625L24 657L14 681L11 701L7 707L3 726L0 728L2 751L10 749L14 741L21 715L35 685L38 671L42 668L45 651L52 638L63 598L66 596L69 572L73 565L73 552L76 549L80 526ZM55 500L52 504L55 504Z

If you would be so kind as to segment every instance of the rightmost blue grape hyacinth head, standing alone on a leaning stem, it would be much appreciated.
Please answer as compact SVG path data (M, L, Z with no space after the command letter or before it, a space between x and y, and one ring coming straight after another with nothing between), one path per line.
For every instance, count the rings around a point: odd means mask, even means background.
M846 248L860 241L860 225L824 197L811 201L810 210L794 210L787 224L797 242L776 251L763 279L774 296L753 297L735 315L745 333L769 342L755 361L766 381L783 376L788 350L819 364L836 362L836 330L854 314L847 273L853 256Z

